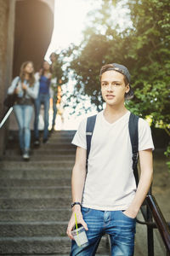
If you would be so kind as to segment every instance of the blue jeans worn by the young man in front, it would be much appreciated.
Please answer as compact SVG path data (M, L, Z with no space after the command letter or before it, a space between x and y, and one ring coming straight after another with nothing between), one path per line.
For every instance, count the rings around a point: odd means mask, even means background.
M94 256L101 237L111 237L112 256L133 256L136 219L122 211L99 211L82 207L82 216L88 224L88 245L78 247L71 241L71 256Z

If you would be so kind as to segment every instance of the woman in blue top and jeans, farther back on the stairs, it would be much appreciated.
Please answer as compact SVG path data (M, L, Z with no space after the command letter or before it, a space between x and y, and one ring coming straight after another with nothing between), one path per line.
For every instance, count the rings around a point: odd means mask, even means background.
M44 105L44 131L43 131L43 143L48 141L48 111L49 111L49 86L51 83L51 68L48 61L43 61L42 69L36 74L36 79L39 80L39 93L35 101L35 122L34 122L34 145L38 146L39 131L38 131L38 117L40 113L41 104Z

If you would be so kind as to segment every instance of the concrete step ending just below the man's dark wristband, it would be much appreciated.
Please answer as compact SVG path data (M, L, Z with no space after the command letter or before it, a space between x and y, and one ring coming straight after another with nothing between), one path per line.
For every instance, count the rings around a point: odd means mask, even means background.
M35 206L34 206L35 207ZM5 209L0 210L1 222L24 222L24 221L68 221L71 217L71 207L60 207L46 209Z

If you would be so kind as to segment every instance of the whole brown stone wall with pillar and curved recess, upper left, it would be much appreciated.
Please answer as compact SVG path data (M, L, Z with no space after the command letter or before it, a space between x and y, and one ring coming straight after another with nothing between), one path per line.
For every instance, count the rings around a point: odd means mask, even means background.
M41 65L52 37L53 11L54 0L0 0L0 120L7 111L3 101L8 86L21 63L31 60L36 69ZM0 159L7 133L8 122L0 129Z

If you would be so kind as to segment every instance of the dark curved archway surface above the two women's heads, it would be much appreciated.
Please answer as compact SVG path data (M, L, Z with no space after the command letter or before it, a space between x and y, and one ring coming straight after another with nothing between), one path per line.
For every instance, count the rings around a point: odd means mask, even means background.
M13 77L19 75L24 61L33 61L36 71L39 70L53 29L54 14L48 3L39 0L16 1Z

